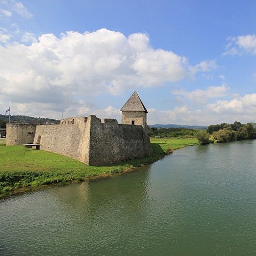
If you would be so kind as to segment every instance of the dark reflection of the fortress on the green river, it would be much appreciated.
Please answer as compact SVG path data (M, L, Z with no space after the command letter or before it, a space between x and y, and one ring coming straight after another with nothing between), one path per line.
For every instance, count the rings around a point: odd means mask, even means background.
M140 208L147 197L148 168L140 169L139 173L135 171L103 179L88 180L58 187L49 192L55 200L65 204L68 209L87 208L91 215L98 212L100 208L106 209L116 203L121 204L119 209L125 209L125 205L128 204L129 207L136 209ZM132 184L131 178L134 178Z

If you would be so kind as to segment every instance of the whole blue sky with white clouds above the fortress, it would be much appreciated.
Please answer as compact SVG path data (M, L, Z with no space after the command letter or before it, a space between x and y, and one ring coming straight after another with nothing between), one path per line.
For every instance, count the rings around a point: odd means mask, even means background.
M0 114L256 122L254 0L0 0Z

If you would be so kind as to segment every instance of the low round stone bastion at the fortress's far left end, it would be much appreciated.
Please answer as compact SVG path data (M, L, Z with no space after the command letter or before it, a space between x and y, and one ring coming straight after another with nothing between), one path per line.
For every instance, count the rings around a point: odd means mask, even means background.
M6 124L6 145L22 145L33 143L36 124Z

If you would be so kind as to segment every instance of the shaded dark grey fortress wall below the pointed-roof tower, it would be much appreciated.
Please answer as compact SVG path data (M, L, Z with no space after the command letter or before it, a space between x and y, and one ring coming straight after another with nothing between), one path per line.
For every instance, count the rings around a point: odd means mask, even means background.
M88 118L90 123L89 165L105 165L148 156L150 139L141 125L118 124L115 119Z

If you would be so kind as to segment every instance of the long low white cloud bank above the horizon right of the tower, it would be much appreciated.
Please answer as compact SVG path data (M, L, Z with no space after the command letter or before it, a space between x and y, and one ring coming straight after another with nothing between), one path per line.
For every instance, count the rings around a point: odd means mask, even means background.
M206 104L206 108L194 109L183 105L172 110L148 109L148 124L209 125L217 123L255 122L256 94L236 95L230 100L218 100Z

